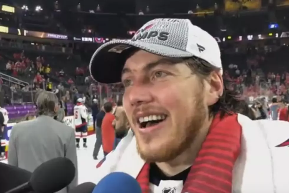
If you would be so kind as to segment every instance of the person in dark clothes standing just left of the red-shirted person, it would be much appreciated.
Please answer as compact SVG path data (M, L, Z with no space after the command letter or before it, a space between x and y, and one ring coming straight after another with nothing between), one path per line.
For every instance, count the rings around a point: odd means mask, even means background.
M105 115L105 112L102 107L101 111L95 117L96 118L96 130L95 130L96 142L95 142L94 149L93 149L93 159L97 159L100 146L102 145L101 124L102 124L104 115Z

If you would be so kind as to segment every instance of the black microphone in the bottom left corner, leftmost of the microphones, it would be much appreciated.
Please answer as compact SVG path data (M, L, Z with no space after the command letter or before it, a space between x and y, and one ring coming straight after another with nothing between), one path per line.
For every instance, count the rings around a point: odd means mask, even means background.
M27 170L0 163L0 193L29 182L31 175Z

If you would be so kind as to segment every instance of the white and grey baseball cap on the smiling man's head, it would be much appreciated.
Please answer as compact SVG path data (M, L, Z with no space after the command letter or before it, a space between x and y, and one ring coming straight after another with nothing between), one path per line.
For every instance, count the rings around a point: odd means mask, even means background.
M120 82L133 47L164 57L198 57L220 68L222 74L221 52L214 37L189 19L160 18L144 24L130 40L101 45L89 64L93 79L107 84Z

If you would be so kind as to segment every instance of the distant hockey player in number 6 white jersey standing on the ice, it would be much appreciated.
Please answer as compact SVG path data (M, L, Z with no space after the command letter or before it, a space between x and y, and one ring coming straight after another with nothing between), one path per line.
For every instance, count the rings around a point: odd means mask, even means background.
M76 147L79 148L80 139L83 139L83 147L87 148L87 108L83 104L83 99L78 98L77 103L73 110L74 113L74 125L75 125L75 138Z

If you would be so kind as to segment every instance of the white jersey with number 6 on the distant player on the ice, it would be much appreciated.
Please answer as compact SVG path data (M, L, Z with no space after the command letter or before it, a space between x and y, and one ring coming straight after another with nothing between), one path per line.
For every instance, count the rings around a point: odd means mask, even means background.
M82 103L77 103L73 110L75 128L87 124L87 108Z

